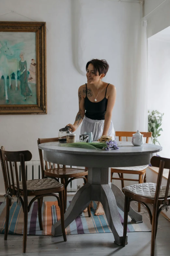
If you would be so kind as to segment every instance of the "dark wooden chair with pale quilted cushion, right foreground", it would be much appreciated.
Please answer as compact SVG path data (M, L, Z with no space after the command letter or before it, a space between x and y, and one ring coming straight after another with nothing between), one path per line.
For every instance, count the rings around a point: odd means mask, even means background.
M123 188L125 194L125 206L124 206L124 228L123 228L123 246L126 244L127 222L128 212L131 201L140 202L148 210L150 223L152 225L151 233L151 256L154 256L155 238L158 227L159 214L163 209L166 211L170 205L170 171L166 186L161 186L163 168L170 169L170 159L163 157L152 157L152 166L159 167L157 184L155 183L143 183L127 186ZM147 204L153 204L153 212L151 213ZM162 206L161 206L162 205Z

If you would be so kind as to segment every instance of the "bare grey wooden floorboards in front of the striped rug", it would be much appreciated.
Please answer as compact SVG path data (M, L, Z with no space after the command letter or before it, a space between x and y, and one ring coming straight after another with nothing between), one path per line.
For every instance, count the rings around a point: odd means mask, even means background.
M155 246L156 255L170 255L170 222L160 215ZM111 233L67 235L63 237L27 236L27 253L22 254L22 236L0 234L0 255L32 255L32 256L146 256L150 255L151 232L128 233L126 247L114 244Z

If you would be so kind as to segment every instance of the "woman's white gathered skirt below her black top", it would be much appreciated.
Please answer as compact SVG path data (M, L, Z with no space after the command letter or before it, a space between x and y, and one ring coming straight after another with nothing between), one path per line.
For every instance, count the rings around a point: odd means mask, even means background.
M93 133L93 141L100 139L103 133L105 120L93 120L86 116L83 118L80 133L84 134L85 131ZM110 127L107 133L108 136L112 136L112 140L115 139L115 130L111 121Z

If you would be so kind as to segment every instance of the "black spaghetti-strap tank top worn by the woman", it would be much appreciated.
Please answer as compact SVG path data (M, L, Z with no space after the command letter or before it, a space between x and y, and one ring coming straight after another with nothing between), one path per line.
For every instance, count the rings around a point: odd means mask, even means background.
M109 84L108 84L109 85ZM108 87L107 85L107 87ZM107 91L106 87L106 91ZM86 84L86 97L85 97L85 116L93 120L105 120L105 113L107 107L106 92L105 97L99 102L92 102L87 97L87 84Z

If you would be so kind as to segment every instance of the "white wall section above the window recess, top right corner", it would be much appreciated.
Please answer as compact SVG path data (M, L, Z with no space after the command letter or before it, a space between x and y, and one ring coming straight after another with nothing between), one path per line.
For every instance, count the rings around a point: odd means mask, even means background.
M155 9L156 7L158 8ZM152 10L154 11L150 13ZM164 0L145 0L144 16L148 20L147 36L149 38L170 26L170 0L165 2Z

